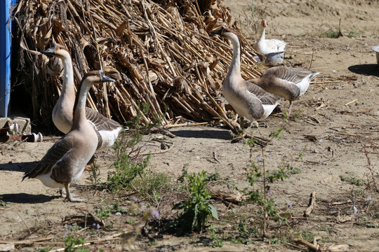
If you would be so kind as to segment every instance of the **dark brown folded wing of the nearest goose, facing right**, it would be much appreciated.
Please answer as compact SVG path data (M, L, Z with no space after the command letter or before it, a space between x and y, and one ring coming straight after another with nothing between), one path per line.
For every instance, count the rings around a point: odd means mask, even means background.
M65 135L65 137L59 139L53 147L48 150L44 158L42 158L42 160L39 161L35 167L33 167L32 170L25 172L22 180L25 178L32 179L39 175L48 174L55 165L67 167L67 162L69 162L69 159L65 159L64 157L72 152L72 146L72 137L69 135Z

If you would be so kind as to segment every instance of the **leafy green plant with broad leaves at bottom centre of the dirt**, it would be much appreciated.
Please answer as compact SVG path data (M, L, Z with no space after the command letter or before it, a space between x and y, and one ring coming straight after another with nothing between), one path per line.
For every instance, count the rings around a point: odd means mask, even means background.
M183 209L178 218L178 226L181 227L179 230L180 235L191 230L196 232L204 231L209 216L218 219L217 210L210 203L211 194L206 189L207 178L208 176L204 170L198 174L187 175L188 183L186 187L189 199L173 207L173 209Z

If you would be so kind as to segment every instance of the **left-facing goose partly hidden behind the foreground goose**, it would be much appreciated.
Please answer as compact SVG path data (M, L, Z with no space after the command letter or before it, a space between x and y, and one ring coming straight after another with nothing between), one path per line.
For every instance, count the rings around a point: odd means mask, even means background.
M64 75L62 92L53 109L53 123L60 132L67 133L72 127L72 109L75 102L74 71L72 69L72 59L69 51L64 46L53 43L51 48L42 51L45 55L59 57L63 63ZM114 144L122 127L116 121L102 116L101 113L86 107L86 117L98 130L99 146L98 150L108 148Z

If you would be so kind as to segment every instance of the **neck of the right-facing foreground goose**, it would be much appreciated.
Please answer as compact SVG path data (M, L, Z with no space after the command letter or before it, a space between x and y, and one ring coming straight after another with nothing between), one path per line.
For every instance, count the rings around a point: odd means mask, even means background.
M77 99L74 104L74 120L72 121L72 129L78 128L81 123L86 121L86 102L87 94L91 85L84 80L79 86Z

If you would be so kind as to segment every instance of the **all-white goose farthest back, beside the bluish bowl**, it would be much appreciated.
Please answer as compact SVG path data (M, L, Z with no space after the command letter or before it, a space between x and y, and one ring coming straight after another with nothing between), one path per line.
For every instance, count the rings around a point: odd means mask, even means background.
M286 47L286 42L281 41L276 38L272 39L266 39L265 38L265 29L267 27L267 22L266 20L262 20L260 24L260 38L258 41L253 45L253 48L260 53L260 55L269 55L272 52L281 52L284 51L284 48ZM281 57L281 61L277 60L276 64L281 64L283 63L283 57L284 57L284 52L281 52L279 54Z

